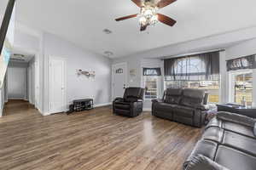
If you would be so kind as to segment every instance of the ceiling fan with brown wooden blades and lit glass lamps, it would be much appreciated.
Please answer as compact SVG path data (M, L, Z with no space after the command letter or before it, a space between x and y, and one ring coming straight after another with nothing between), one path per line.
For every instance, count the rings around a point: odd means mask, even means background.
M167 26L174 26L176 24L176 20L164 15L158 14L157 10L160 8L164 8L171 3L174 3L177 0L131 0L133 3L137 4L141 11L139 14L131 14L125 17L121 17L116 19L116 21L127 20L131 18L135 18L137 16L140 17L139 23L141 26L141 31L145 31L148 26L154 26L158 21Z

